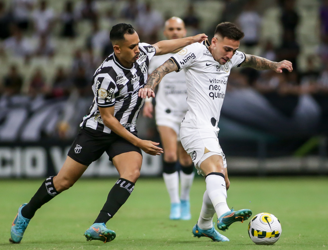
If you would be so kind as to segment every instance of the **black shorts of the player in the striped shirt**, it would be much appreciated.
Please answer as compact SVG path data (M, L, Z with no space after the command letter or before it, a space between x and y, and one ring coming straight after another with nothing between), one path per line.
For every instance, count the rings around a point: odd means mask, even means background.
M132 134L137 136L136 132L132 132ZM68 151L68 156L78 163L89 166L98 160L105 151L110 161L113 161L113 157L116 155L132 151L136 151L142 156L139 147L117 134L108 134L88 127L80 129Z

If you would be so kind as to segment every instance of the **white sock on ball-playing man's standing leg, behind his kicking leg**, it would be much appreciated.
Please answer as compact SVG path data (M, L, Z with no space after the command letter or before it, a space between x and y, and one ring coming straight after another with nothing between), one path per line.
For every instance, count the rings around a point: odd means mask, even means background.
M203 195L203 205L202 210L200 211L200 215L198 218L197 226L202 230L207 230L213 227L213 216L215 210L212 204L210 197L205 191Z

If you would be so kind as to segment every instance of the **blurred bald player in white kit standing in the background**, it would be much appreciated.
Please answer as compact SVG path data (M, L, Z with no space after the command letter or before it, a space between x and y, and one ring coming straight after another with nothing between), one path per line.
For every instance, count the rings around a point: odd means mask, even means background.
M186 37L187 30L179 17L165 22L164 35L168 40ZM148 72L152 73L176 52L155 56L149 63ZM189 193L194 179L194 164L180 142L180 124L187 112L187 87L183 71L167 75L156 93L155 119L164 151L163 178L171 200L171 220L190 220ZM143 115L152 118L153 104L150 98L145 100ZM179 173L181 166L179 198ZM179 168L179 167L178 167Z

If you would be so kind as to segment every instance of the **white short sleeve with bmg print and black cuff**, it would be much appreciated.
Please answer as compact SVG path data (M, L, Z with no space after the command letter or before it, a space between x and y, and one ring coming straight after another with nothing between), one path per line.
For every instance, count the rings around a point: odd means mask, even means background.
M179 72L181 69L189 67L195 63L197 55L197 48L195 47L195 44L189 45L181 49L179 52L177 52L171 57L176 67L178 68L176 72Z

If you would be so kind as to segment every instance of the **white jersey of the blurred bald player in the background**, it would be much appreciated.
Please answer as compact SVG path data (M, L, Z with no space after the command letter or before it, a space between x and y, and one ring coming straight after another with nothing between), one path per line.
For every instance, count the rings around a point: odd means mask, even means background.
M169 53L154 56L149 63L148 73L151 74L173 55L173 53ZM183 117L188 109L185 73L181 71L171 72L165 75L158 86L155 98L156 108L163 109L167 113L172 113L174 116Z

